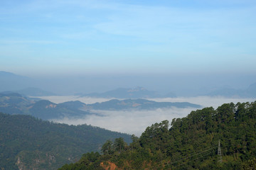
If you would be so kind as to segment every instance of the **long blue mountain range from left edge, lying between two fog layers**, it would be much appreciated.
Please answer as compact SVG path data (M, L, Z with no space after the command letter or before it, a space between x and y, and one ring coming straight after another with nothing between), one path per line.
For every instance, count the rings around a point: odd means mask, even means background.
M102 103L85 104L80 101L53 103L47 100L33 101L21 94L0 94L0 111L9 114L33 115L43 120L58 118L80 118L91 115L91 110L124 111L124 110L154 110L156 108L200 108L201 106L188 102L156 102L146 99L113 99Z

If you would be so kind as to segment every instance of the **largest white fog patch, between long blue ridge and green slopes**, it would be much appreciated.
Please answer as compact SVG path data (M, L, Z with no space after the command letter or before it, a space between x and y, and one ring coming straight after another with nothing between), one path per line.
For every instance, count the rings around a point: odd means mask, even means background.
M142 132L151 124L159 123L162 120L172 120L182 118L192 108L169 108L156 109L154 111L91 111L97 115L86 115L83 118L63 118L52 120L57 123L67 123L68 125L94 125L107 130L124 132L140 136Z

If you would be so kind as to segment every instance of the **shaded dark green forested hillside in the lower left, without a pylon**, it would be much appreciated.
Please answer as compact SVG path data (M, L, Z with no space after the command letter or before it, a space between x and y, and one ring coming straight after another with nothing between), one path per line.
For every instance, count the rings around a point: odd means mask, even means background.
M130 136L91 125L50 123L0 113L0 169L57 169L97 152L106 140Z

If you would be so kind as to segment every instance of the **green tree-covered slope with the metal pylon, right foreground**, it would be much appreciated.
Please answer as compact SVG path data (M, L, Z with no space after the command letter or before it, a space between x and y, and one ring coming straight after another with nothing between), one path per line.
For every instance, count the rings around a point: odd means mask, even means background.
M102 154L83 154L71 169L256 169L256 102L226 103L192 111L186 118L155 123L132 136L117 138ZM218 154L218 141L220 152Z

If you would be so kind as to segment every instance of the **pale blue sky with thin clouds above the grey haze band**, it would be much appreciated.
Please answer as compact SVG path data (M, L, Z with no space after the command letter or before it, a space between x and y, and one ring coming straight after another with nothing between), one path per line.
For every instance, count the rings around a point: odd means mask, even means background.
M256 73L256 1L0 1L0 70Z

